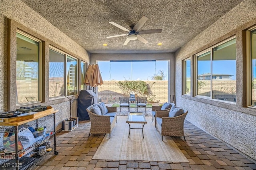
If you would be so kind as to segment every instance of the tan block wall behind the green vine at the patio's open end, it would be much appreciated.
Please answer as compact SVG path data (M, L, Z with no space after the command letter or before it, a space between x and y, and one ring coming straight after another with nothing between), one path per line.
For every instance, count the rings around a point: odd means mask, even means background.
M98 97L108 97L108 102L119 102L119 97L124 96L122 90L117 86L116 80L104 81L98 86ZM154 96L153 102L168 102L168 81L145 81Z

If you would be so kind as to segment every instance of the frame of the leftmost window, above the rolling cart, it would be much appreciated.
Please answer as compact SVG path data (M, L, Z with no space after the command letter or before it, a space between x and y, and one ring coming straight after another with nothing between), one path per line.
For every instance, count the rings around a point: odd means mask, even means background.
M43 100L43 88L44 88L43 87L43 71L42 71L43 70L43 66L42 66L43 65L42 64L42 62L43 62L43 45L42 45L43 41L41 39L37 38L36 36L30 35L30 34L24 32L24 31L22 31L18 28L16 29L16 35L17 35L17 33L19 33L20 35L23 35L24 37L32 39L33 41L38 42L38 44L39 44L39 47L38 47L39 48L39 51L38 51L39 57L38 57L38 100L33 101L33 102L18 103L18 99L16 99L16 106L23 106L23 105L34 104L34 103L41 103L41 102L43 102L42 100ZM16 37L15 39L17 39L16 35L15 35L15 37ZM15 46L15 48L17 49L17 45ZM17 53L16 53L16 61L17 61ZM16 70L16 68L17 68L17 66L15 64L15 70ZM16 72L15 72L15 74L16 74ZM16 81L17 81L17 78L15 80L16 89L17 89ZM17 90L16 90L16 93L17 93Z

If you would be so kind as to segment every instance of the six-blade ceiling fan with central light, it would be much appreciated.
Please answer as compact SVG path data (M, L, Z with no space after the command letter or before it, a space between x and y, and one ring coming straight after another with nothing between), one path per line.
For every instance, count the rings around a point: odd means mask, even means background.
M142 43L148 43L148 41L146 39L144 39L142 36L142 34L152 34L152 33L161 33L162 29L148 29L148 30L142 30L139 31L139 29L144 25L144 23L148 20L148 18L146 16L142 16L142 18L140 18L140 20L136 23L136 25L132 25L130 26L130 30L126 29L125 27L118 25L117 23L114 22L110 22L112 25L115 25L116 27L127 31L128 33L125 34L120 34L120 35L113 35L113 36L109 36L107 38L113 38L113 37L121 37L121 36L126 36L128 35L126 41L124 42L123 45L127 45L129 43L130 40L136 40L138 39L139 41L141 41Z

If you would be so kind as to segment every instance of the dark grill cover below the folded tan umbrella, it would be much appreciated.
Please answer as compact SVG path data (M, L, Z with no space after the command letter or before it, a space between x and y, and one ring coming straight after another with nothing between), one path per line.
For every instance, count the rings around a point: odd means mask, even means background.
M96 103L98 103L98 96L92 90L81 90L77 106L77 117L79 120L90 120L86 108Z

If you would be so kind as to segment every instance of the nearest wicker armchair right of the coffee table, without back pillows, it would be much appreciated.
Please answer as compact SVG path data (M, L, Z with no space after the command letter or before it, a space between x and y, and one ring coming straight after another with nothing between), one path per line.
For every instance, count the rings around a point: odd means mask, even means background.
M178 107L180 108L180 107ZM158 130L163 136L174 136L174 137L184 137L184 120L186 115L188 114L188 111L184 108L183 114L176 116L176 117L168 117L169 112L167 111L157 111L156 117L160 117L161 119L156 119L156 130ZM159 120L159 121L158 121Z

